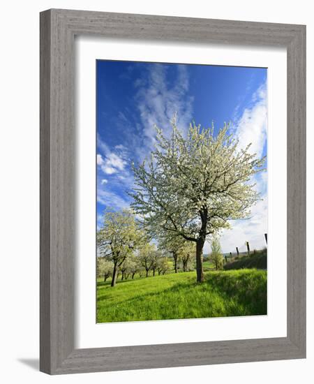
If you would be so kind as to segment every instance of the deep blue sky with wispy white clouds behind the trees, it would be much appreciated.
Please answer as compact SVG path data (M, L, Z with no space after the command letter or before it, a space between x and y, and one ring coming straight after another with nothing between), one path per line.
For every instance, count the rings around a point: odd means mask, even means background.
M186 131L190 121L218 130L226 122L241 146L252 143L257 156L267 154L267 69L133 61L96 61L97 221L105 207L128 207L133 185L132 161L143 161L154 149L154 124L170 133L177 112ZM249 219L232 222L220 239L223 252L235 246L265 245L267 172L255 177L263 200ZM209 251L209 244L205 245Z

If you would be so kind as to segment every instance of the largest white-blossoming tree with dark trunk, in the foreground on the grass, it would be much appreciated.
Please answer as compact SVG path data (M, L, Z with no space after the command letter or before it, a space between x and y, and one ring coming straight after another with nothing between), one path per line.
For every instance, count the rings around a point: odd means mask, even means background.
M197 282L202 282L202 252L206 239L230 219L250 214L259 194L250 183L264 158L240 149L227 133L190 125L185 136L172 121L171 138L156 128L156 149L149 160L133 165L132 207L144 217L151 234L160 230L195 243Z

